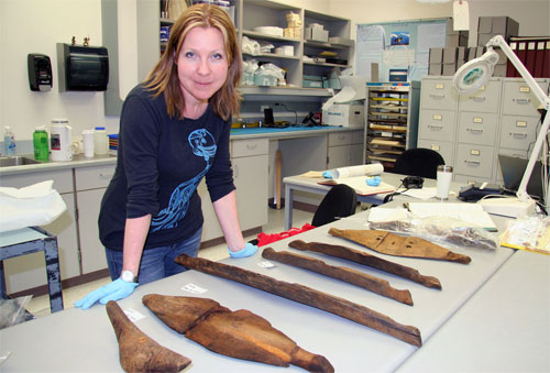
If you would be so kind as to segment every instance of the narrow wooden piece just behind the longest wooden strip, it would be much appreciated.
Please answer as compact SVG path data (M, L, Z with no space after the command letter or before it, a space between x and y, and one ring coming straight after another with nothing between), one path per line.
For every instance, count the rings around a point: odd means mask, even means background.
M359 271L346 268L343 266L334 266L324 263L323 261L308 257L288 251L276 252L272 248L266 248L262 252L262 256L272 261L294 265L308 271L317 272L332 278L338 278L346 283L363 287L367 290L377 293L385 297L395 299L406 305L413 306L413 298L409 290L399 290L385 279L361 273Z

